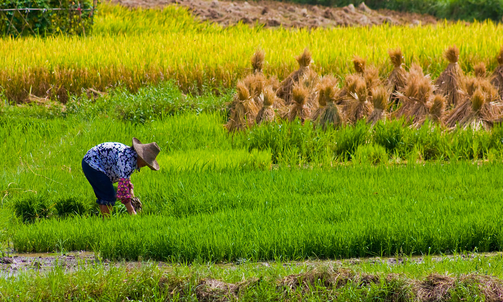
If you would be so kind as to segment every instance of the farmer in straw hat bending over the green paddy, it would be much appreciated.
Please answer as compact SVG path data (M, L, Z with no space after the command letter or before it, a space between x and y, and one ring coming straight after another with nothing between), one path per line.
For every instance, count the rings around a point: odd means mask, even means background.
M141 143L133 137L133 146L120 142L104 142L92 147L82 159L82 171L93 187L96 202L103 216L109 216L117 198L126 206L128 212L136 215L131 204L134 197L130 177L135 170L147 166L159 170L155 158L160 148L155 142ZM113 184L117 184L117 195Z

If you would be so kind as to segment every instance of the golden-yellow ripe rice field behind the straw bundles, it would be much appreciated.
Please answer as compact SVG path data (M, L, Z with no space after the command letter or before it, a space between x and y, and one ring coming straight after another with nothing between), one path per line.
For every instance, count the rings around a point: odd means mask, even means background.
M28 94L59 96L95 88L124 86L131 91L174 79L185 92L231 88L249 72L249 58L266 51L266 74L283 79L297 68L294 56L309 47L315 70L339 77L352 72L357 54L392 68L387 50L401 47L405 64L420 63L434 78L445 68L442 52L456 44L460 64L471 71L483 61L496 66L503 25L440 23L436 26L333 29L265 29L238 25L221 28L199 23L183 8L133 10L102 4L92 36L4 39L0 46L0 87L11 101Z

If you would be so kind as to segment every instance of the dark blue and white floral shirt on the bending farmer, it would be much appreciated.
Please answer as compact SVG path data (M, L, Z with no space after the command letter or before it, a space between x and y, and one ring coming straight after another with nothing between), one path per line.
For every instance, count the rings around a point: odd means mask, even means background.
M136 151L120 142L104 142L92 147L84 156L88 165L105 173L112 183L128 179L136 165Z

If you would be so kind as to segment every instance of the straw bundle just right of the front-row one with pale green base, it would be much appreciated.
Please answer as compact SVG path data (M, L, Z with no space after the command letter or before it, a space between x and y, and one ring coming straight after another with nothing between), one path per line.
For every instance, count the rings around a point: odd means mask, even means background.
M355 83L355 92L350 92L350 98L345 106L345 113L352 123L368 118L372 113L372 104L368 101L367 86L365 81L358 79Z

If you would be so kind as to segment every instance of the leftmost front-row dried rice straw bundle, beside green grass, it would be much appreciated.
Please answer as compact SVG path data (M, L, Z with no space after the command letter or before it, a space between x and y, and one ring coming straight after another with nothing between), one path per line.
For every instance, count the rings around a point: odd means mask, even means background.
M259 111L257 105L251 98L248 88L239 81L236 85L236 95L232 102L230 118L225 127L229 132L236 132L250 127L255 122L255 117Z

